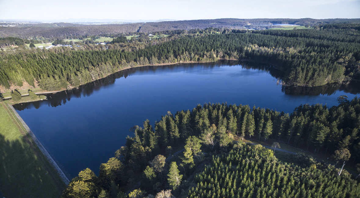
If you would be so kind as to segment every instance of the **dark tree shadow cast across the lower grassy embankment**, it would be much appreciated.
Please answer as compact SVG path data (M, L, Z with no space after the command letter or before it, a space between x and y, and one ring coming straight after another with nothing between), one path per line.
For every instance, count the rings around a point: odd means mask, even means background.
M60 197L57 186L25 138L0 134L0 189L5 197Z

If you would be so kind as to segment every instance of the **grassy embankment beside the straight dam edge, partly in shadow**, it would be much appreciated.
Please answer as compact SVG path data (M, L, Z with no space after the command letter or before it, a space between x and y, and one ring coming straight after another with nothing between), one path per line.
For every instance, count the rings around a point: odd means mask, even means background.
M1 191L13 198L60 197L66 185L5 102L0 102Z

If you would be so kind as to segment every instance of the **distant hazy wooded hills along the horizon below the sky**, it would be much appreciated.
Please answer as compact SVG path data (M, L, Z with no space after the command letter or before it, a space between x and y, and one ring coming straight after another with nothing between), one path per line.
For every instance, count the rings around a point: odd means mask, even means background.
M117 35L131 32L159 32L177 29L231 28L267 29L273 24L317 26L329 23L360 23L360 19L202 19L149 23L85 25L75 23L0 23L0 37L78 38L92 35Z

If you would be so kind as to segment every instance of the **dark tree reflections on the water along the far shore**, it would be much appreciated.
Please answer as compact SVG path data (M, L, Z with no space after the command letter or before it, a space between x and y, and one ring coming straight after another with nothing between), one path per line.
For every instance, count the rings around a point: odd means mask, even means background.
M214 67L221 67L224 65L241 65L244 69L256 69L261 70L269 73L272 77L278 79L278 82L281 83L282 72L276 69L273 69L267 65L260 64L260 63L248 63L248 62L238 62L238 61L231 61L231 60L224 60L221 61L221 64L214 64L214 63L202 63L201 65L204 68L214 68ZM57 107L59 105L65 105L67 101L70 101L71 98L81 98L90 96L94 91L99 90L101 87L108 87L112 86L115 83L115 80L118 78L126 78L132 74L140 74L141 73L155 73L157 70L174 70L179 68L194 68L198 65L196 64L174 64L174 65L161 65L161 66L143 66L137 68L126 69L112 75L109 75L105 78L95 80L94 82L85 84L80 86L79 88L75 88L68 91L52 93L46 95L48 100L45 101L36 101L36 102L27 102L14 105L16 110L24 110L28 107L28 105L32 104L36 109L39 109L41 105L48 105L51 107ZM231 73L229 74L230 77L243 77L249 76L251 70L245 70L239 73ZM253 75L256 75L253 74ZM337 91L344 91L345 93L351 94L359 94L360 93L360 82L351 81L348 83L332 83L326 84L324 86L316 86L316 87L302 87L302 86L282 86L282 92L286 95L292 96L319 96L319 95L333 95Z

